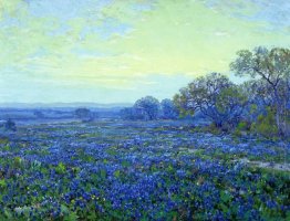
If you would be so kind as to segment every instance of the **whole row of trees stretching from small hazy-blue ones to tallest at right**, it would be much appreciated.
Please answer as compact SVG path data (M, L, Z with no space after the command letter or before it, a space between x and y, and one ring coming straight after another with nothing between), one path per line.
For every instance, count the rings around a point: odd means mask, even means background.
M146 96L124 108L124 119L175 119L201 113L220 130L251 131L268 137L290 136L290 50L258 46L241 50L230 64L236 76L210 73L195 78L173 99Z

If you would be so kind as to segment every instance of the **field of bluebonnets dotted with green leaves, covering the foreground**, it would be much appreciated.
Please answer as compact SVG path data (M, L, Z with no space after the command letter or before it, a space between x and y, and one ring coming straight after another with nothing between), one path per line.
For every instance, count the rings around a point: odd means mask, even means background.
M0 220L289 220L290 145L174 122L22 126Z

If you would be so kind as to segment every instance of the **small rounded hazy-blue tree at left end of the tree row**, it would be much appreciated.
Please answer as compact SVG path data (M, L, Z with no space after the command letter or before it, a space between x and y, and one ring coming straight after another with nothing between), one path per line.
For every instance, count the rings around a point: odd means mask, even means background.
M157 119L160 110L160 104L155 97L146 96L136 101L134 108L136 115L139 115L143 119L152 120Z

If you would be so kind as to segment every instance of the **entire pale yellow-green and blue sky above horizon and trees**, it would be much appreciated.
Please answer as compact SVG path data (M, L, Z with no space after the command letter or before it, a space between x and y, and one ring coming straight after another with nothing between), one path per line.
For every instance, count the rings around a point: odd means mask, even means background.
M238 50L290 46L289 0L0 0L0 103L170 98Z

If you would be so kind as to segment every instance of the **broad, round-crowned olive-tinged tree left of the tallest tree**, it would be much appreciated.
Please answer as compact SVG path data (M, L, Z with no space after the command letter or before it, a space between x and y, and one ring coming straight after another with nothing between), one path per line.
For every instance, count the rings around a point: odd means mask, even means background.
M217 127L237 124L247 98L240 88L219 73L201 76L182 88L174 102L183 114L196 110L210 118Z

